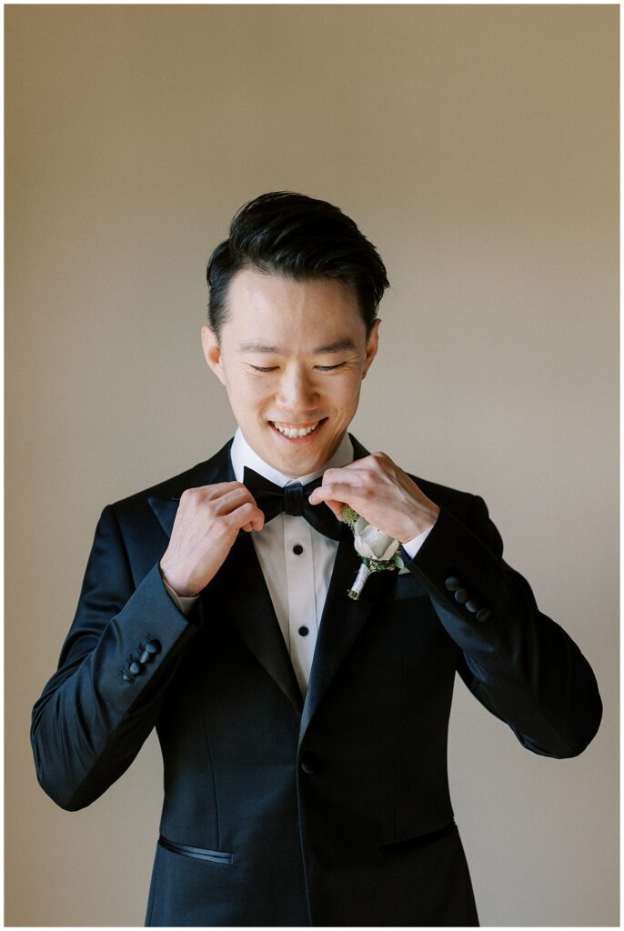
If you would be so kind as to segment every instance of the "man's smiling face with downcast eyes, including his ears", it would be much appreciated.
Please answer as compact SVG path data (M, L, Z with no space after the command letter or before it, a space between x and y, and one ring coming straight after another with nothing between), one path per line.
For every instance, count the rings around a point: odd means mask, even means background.
M202 344L245 439L266 463L292 477L325 465L358 409L378 325L367 341L355 291L339 281L251 268L232 278L221 346L208 326Z

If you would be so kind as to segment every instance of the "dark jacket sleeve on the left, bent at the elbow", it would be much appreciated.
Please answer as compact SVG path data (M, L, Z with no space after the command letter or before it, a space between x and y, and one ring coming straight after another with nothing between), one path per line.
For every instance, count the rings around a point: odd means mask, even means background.
M84 808L128 769L195 632L157 563L135 586L114 507L106 506L58 669L33 708L37 779L54 802Z

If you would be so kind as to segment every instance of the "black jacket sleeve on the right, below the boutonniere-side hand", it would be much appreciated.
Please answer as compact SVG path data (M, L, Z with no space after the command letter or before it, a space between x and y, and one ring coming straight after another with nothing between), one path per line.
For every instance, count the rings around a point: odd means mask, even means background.
M457 670L468 688L509 724L523 747L572 757L585 749L603 705L590 664L576 643L536 605L482 498L466 523L445 507L427 540L406 563L431 596L441 624L459 647Z

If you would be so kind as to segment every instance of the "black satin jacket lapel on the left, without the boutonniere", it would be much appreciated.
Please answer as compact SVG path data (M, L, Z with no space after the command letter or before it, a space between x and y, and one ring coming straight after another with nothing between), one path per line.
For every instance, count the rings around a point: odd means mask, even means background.
M192 470L170 498L148 498L168 536L185 487L235 480L229 447L227 443L212 459ZM197 603L200 624L210 624L215 614L225 614L240 639L301 713L304 699L249 533L237 537L214 582L204 589Z

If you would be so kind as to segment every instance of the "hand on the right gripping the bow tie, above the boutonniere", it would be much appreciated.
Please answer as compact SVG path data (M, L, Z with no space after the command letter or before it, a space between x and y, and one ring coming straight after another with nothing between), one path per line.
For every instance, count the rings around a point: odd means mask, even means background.
M342 468L328 468L309 501L311 505L324 501L338 519L348 505L400 543L433 527L440 514L440 507L385 452L373 452Z

